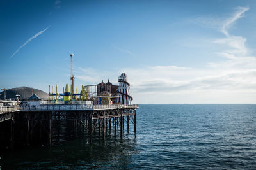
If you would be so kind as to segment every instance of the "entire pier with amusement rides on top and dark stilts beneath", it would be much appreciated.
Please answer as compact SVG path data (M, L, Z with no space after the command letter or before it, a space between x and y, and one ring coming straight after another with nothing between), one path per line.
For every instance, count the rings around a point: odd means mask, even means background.
M127 74L118 77L119 85L102 80L97 85L82 85L77 92L73 57L74 54L70 54L70 88L66 83L61 93L58 85L56 91L49 85L48 94L28 87L4 89L4 100L0 103L0 149L13 148L16 143L51 145L63 136L76 137L79 131L87 131L92 143L93 132L99 131L99 136L105 140L106 129L111 128L115 135L116 131L120 132L122 138L125 124L128 132L129 125L134 125L136 133L139 106L131 104L133 98ZM6 94L15 94L15 99L7 96L10 100L6 100Z

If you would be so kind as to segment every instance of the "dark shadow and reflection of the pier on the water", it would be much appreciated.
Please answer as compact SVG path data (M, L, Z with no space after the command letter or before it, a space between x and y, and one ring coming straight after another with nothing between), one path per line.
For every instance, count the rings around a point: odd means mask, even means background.
M61 136L60 143L28 146L1 154L3 169L131 169L130 155L136 153L136 138L127 132L106 133L106 140L93 134L93 143L86 132L77 136Z

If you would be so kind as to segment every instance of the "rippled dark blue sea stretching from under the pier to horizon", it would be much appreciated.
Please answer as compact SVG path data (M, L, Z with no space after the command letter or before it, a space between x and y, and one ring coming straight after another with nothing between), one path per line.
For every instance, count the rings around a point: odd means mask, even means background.
M1 169L256 169L256 104L140 104L136 121L0 153Z

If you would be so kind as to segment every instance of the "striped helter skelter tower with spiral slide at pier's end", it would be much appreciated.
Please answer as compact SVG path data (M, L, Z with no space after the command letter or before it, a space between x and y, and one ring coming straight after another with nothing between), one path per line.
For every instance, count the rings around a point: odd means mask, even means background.
M122 73L118 77L119 87L118 87L118 97L116 103L118 104L131 104L132 97L130 96L130 84L127 81L127 75Z

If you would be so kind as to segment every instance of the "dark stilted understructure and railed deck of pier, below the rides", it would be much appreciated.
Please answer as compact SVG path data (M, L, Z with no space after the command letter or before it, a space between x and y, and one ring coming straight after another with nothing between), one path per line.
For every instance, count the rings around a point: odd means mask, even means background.
M42 104L40 106L7 106L0 108L1 146L13 148L15 143L30 145L58 142L63 131L67 136L77 136L77 131L87 131L90 143L93 132L98 131L105 140L106 129L122 138L124 124L134 125L138 104ZM64 130L63 130L64 129ZM4 131L3 131L4 130ZM4 143L5 140L5 143ZM3 141L3 143L2 143ZM7 146L9 145L9 146Z

